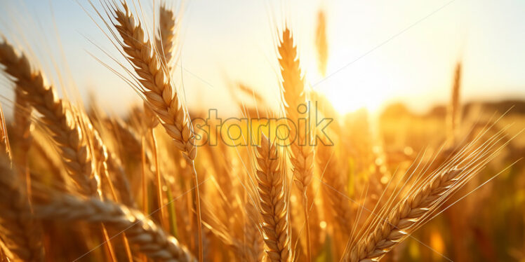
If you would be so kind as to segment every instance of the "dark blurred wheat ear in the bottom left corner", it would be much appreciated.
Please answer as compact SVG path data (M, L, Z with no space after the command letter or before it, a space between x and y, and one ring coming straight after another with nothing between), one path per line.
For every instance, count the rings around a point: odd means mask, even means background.
M18 175L5 159L0 163L0 187L0 238L6 253L15 261L44 261L40 224L33 219Z

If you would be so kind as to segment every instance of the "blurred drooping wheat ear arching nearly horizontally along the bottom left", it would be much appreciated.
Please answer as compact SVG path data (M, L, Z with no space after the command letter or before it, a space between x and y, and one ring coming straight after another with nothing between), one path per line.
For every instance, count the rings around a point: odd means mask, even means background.
M125 232L136 251L155 261L195 261L186 247L144 214L114 202L60 195L34 205L34 211L42 219L103 223L110 230Z

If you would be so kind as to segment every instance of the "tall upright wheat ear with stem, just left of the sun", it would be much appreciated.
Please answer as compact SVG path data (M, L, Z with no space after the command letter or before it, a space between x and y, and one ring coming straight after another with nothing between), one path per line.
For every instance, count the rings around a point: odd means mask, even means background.
M308 104L305 92L305 80L301 74L297 47L293 44L293 36L288 28L282 34L277 48L279 53L279 64L282 77L282 99L286 111L286 118L294 123L290 127L291 141L291 163L293 165L293 181L303 195L303 211L305 214L307 260L311 261L310 251L310 221L308 221L308 199L307 187L312 181L314 168L314 148L312 146L312 132L310 132L310 120L307 114L300 120L300 107Z

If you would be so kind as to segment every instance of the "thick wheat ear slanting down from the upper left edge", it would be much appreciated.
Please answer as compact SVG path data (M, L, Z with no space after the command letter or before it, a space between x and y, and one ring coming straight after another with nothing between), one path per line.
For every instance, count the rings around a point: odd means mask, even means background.
M17 92L23 92L27 103L42 114L41 122L51 132L79 191L86 195L96 193L98 178L93 174L89 149L72 111L67 110L67 104L57 97L52 86L44 84L41 71L32 71L27 57L23 53L18 55L6 41L0 44L0 64L6 67L6 74L15 78Z

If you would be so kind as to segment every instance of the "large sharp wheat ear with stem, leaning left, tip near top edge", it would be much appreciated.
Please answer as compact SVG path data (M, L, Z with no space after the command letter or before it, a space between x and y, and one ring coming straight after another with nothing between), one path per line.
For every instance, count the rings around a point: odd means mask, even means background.
M194 159L197 156L195 137L192 130L190 118L182 108L173 81L168 74L166 64L153 48L149 39L145 38L145 32L140 21L135 21L133 13L129 10L126 1L121 2L122 8L113 6L114 27L119 32L120 42L127 59L135 67L136 79L141 83L140 92L145 101L161 120L168 135L173 138L175 146L182 152L194 173L194 188L197 202L197 234L199 237L199 261L203 260L202 244L202 219L201 200L199 195L199 179L194 167ZM136 23L136 24L135 24Z

